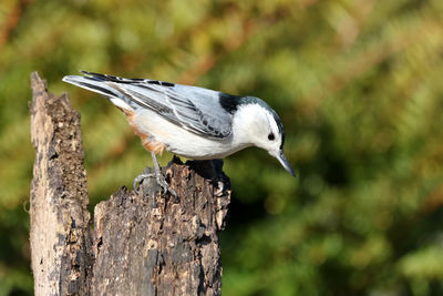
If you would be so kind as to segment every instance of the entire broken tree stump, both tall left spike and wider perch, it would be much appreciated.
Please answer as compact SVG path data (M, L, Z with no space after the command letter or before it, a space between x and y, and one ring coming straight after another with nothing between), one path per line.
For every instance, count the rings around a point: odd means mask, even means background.
M35 73L32 88L35 295L219 295L217 232L230 198L223 162L173 159L163 170L177 197L155 178L138 194L120 188L96 205L91 244L79 115Z

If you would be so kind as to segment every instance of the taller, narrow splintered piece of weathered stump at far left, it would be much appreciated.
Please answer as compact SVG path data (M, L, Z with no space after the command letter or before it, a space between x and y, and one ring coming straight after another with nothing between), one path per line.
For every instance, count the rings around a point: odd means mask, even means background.
M31 251L35 295L86 294L92 274L80 115L31 75Z

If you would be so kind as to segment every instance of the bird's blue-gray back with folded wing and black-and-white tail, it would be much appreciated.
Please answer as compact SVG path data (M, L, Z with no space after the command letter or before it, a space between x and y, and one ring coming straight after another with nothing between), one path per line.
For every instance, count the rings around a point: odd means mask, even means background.
M147 108L206 137L225 139L231 133L233 115L220 105L219 100L227 95L225 93L157 80L82 72L86 75L65 76L63 81L105 96L119 98L134 109Z

